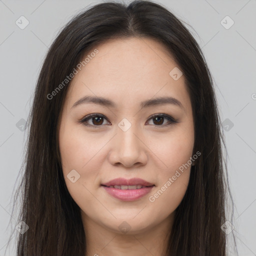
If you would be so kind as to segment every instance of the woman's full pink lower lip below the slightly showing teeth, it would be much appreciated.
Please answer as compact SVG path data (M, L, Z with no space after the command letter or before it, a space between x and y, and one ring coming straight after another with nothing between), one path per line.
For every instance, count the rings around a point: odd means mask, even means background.
M153 186L137 189L118 189L101 185L110 195L123 201L133 201L150 192Z

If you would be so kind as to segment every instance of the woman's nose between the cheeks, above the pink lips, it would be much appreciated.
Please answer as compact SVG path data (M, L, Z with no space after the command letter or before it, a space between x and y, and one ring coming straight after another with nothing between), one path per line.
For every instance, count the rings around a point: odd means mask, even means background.
M112 165L123 165L126 168L142 166L147 161L147 146L135 125L126 131L117 127L108 160Z

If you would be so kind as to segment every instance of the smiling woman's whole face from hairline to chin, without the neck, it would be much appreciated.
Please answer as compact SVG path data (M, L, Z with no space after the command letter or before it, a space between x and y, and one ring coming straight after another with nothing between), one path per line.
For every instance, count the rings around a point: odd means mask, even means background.
M188 185L194 130L185 79L153 39L109 40L90 52L60 116L65 183L84 222L146 231L173 217Z

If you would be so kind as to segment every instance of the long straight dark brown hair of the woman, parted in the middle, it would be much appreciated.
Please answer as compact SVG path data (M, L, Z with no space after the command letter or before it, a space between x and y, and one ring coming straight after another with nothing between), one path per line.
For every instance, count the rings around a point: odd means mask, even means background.
M18 234L18 256L85 254L80 208L65 185L58 147L59 117L70 82L53 99L47 95L94 45L131 37L152 38L172 54L192 105L193 150L201 152L176 208L166 255L227 255L226 234L220 226L228 219L225 194L230 195L230 190L213 79L184 24L158 3L135 0L128 5L104 2L82 10L57 34L45 56L28 116L24 172L15 194L15 200L22 195L17 223L22 220L29 227ZM230 205L233 210L232 199Z

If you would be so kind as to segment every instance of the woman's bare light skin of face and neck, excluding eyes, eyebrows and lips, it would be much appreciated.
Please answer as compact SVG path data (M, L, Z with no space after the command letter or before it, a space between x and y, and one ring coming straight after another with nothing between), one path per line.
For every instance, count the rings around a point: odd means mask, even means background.
M111 39L94 48L99 52L69 84L58 137L65 183L81 209L85 256L160 256L185 194L190 166L153 202L149 196L193 155L193 117L185 79L169 75L178 65L153 39ZM72 107L85 95L106 97L117 107L95 103ZM139 106L140 101L160 96L178 99L183 108L169 103ZM87 120L96 128L78 122L91 113L104 115L100 124ZM165 118L149 118L156 113L179 122L164 125ZM126 131L118 127L123 118L131 124ZM80 175L74 183L67 178L72 169ZM139 177L155 186L137 200L123 201L101 186L116 177ZM126 233L118 228L123 221L130 226Z

